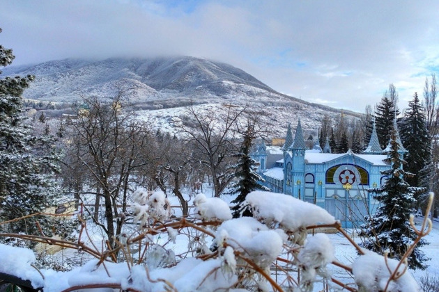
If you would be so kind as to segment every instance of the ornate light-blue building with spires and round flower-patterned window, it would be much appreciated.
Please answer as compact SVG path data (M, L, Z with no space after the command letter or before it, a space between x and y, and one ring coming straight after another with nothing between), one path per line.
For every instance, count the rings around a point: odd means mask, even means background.
M300 120L294 138L288 125L285 141L283 147L261 144L252 155L260 163L265 185L273 192L317 204L340 220L343 227L353 227L376 211L378 202L367 190L383 185L387 177L381 171L392 166L384 162L386 151L380 148L375 127L361 154L351 150L332 154L328 142L323 149L307 149ZM406 150L399 143L403 155Z

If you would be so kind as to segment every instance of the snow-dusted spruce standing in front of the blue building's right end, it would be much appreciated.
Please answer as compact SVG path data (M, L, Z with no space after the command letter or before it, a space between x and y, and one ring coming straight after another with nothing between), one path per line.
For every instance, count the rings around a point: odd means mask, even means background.
M406 177L413 174L402 169L404 163L402 159L402 145L399 143L398 133L394 127L390 131L390 145L387 147L386 163L392 163L390 170L381 172L387 176L387 181L383 186L372 188L373 197L380 202L376 213L367 216L366 223L362 225L362 234L365 240L362 243L364 248L373 250L380 254L389 252L389 257L401 259L407 251L408 245L413 243L417 237L410 227L410 213L414 213L413 195L419 188L410 187L405 181ZM408 258L410 268L424 269L423 262L426 257L419 250L425 241L420 241L413 253Z

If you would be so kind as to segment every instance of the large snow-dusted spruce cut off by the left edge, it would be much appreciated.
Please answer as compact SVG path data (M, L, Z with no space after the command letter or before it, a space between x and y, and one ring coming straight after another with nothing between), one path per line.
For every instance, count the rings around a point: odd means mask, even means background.
M0 45L1 67L10 65L14 58L11 49ZM53 178L59 153L52 147L53 140L33 136L32 127L22 115L21 95L32 80L30 75L0 79L0 221L43 211L53 206L54 196L59 193ZM8 232L30 234L38 232L36 220L47 236L58 226L36 216L1 227Z

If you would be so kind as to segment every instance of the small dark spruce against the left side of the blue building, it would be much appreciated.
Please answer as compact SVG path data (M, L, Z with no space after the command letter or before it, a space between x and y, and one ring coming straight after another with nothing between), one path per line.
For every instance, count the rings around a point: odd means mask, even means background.
M260 184L264 181L263 178L256 172L259 163L250 156L252 151L252 142L256 138L254 124L248 123L247 129L243 135L242 145L238 156L237 171L235 173L236 181L231 184L231 191L229 193L238 194L236 199L231 201L235 204L231 210L233 211L233 218L241 216L253 216L252 211L245 209L242 212L241 203L244 202L245 197L253 190L270 190Z

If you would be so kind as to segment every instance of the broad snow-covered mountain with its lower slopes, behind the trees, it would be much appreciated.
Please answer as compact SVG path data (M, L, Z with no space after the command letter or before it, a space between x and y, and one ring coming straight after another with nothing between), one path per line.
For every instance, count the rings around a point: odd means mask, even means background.
M1 76L26 74L33 74L36 79L25 90L25 99L71 103L91 95L112 99L123 92L128 102L149 110L150 117L169 117L171 113L178 117L184 112L181 107L187 104L204 105L201 108L209 104L208 108L218 111L224 108L222 104L247 104L264 112L263 118L273 135L283 135L286 124L294 125L298 117L305 130L316 131L323 115L341 112L282 95L232 65L187 56L55 60L6 67Z

